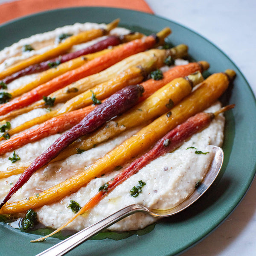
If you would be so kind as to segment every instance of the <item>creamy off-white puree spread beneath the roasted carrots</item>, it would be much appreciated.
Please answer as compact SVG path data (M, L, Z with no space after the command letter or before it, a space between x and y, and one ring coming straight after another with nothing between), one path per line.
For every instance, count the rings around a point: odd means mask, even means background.
M76 23L73 26L65 26L63 28L55 29L52 32L44 34L34 35L27 39L22 39L18 43L13 44L11 47L6 47L0 52L0 70L5 67L27 58L32 54L44 52L53 47L54 38L62 33L76 34L84 29L104 27L104 24L95 23ZM129 31L127 29L114 29L112 33L125 34ZM102 37L103 38L103 37ZM101 39L102 39L101 38ZM93 40L82 46L76 46L76 49L81 49L86 45L95 43L100 39ZM24 44L32 44L35 46L35 51L22 54L21 48ZM11 56L10 58L8 58ZM184 64L184 61L177 61L175 64ZM26 83L35 79L37 75L25 76L17 79L8 85L9 90L13 89L20 84ZM216 103L207 111L214 112L220 108L220 103ZM36 116L40 116L45 113L44 109L33 110L29 113L18 116L11 120L12 127L19 125L20 123L32 119ZM31 195L40 193L41 191L54 186L67 178L76 175L81 172L81 167L90 166L100 157L103 157L106 153L111 151L117 145L121 144L124 140L131 137L142 127L137 127L129 131L125 131L123 134L115 137L114 139L102 143L95 148L85 151L82 154L75 154L63 162L52 163L47 167L38 170L31 179L13 195L10 201L17 201L23 198L29 198ZM81 230L102 218L107 217L113 212L122 209L129 204L144 204L151 209L169 209L180 204L188 195L190 195L198 180L203 179L209 165L212 161L214 152L208 145L221 146L223 142L223 130L224 130L224 117L218 116L214 119L201 133L195 134L189 141L184 143L180 148L172 153L168 153L158 159L152 161L136 175L128 178L121 185L117 186L111 193L109 193L99 204L93 209L80 215L69 226L69 229ZM46 150L49 145L56 140L60 134L55 134L45 139L42 139L35 143L29 143L22 148L17 149L15 152L20 156L20 163L29 163L34 160L39 154ZM195 149L189 147L195 147L200 151L209 152L208 154L195 154ZM189 148L189 149L187 149ZM12 157L13 152L6 153L0 157L0 171L6 170L12 163L8 160ZM63 198L60 202L53 203L51 205L45 205L41 208L35 209L38 213L38 219L41 223L48 227L58 228L64 224L69 218L73 216L73 212L68 208L70 200L78 202L83 206L93 195L95 195L99 187L108 182L117 173L121 172L113 171L110 174L105 174L102 177L93 179L87 186L79 189L78 192L73 193L66 198ZM0 200L9 192L12 184L14 184L19 175L14 175L6 179L0 180ZM142 180L146 183L142 188L142 192L137 198L130 195L130 190L138 185L138 181ZM111 226L111 230L134 230L140 229L148 224L154 222L155 219L142 213L136 213L129 216L122 221Z

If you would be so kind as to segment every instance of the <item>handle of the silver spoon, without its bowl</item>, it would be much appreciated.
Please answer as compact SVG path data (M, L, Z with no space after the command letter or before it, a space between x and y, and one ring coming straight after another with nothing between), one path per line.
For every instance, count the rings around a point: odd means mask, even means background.
M70 236L69 238L55 244L49 249L43 251L42 253L37 254L36 256L61 256L68 253L70 250L86 241L93 235L99 233L101 230L111 226L117 221L125 218L128 215L133 214L134 212L144 212L147 211L146 208L143 208L141 205L132 204L129 205L118 212L113 213L102 221L97 222L96 224L91 225L90 227L81 230L80 232Z

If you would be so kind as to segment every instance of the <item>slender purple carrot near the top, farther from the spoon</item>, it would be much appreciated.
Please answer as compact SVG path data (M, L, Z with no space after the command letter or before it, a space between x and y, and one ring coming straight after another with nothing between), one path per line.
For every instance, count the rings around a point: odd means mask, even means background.
M41 62L39 64L31 65L29 67L24 68L23 70L20 70L10 76L7 76L5 79L2 80L3 83L9 84L11 81L21 77L26 76L38 72L42 72L45 70L48 70L51 67L56 67L58 64L61 64L66 61L70 61L73 58L78 58L79 56L94 53L101 51L103 49L108 48L109 46L116 46L118 44L121 44L121 39L118 36L111 35L108 38L97 42L96 44L93 44L89 47L86 47L84 49L81 49L76 52L70 52L65 55L53 58L48 61Z

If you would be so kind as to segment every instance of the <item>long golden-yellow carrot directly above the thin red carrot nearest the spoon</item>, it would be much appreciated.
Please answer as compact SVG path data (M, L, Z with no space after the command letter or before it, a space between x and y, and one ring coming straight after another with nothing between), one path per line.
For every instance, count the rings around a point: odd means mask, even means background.
M52 186L41 192L38 196L30 196L29 200L26 198L5 204L1 208L0 213L23 212L30 208L37 208L44 204L58 201L76 192L94 177L110 172L116 166L122 166L123 163L132 157L150 148L164 134L185 122L190 116L204 111L204 109L212 105L227 89L230 80L234 78L235 74L233 70L226 70L226 73L216 73L209 76L196 90L183 99L180 104L172 108L171 116L164 114L155 119L151 124L97 160L79 175L70 177L64 182Z

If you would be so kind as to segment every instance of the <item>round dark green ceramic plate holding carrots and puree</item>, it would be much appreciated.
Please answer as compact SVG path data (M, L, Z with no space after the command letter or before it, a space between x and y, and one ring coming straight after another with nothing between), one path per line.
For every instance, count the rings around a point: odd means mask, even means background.
M209 191L194 205L172 218L158 223L144 236L127 239L86 241L68 255L73 256L170 256L191 247L214 230L227 218L243 198L256 170L256 105L253 93L244 76L220 49L201 35L170 20L154 15L124 9L73 8L59 9L12 21L0 27L0 49L21 38L55 29L75 22L105 22L121 18L120 25L149 34L169 26L172 44L188 44L189 53L196 60L209 61L209 73L228 68L237 73L232 90L222 99L235 103L236 108L226 114L224 153L221 174ZM0 224L0 256L31 256L56 244L58 239L44 243L29 241L37 236L20 233L6 224Z

